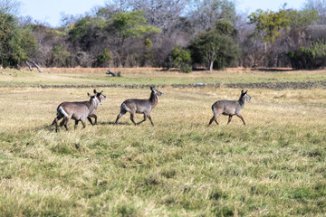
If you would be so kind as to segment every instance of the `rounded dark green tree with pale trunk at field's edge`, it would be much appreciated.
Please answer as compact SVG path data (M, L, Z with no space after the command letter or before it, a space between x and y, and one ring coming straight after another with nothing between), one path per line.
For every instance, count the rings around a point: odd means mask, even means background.
M199 35L190 42L189 49L194 63L204 64L217 70L230 66L240 55L240 48L230 35L235 29L230 24L217 23L216 30Z

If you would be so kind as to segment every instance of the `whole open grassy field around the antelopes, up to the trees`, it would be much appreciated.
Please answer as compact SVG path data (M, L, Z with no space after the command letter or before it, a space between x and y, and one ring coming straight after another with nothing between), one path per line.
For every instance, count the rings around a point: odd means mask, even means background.
M0 216L325 216L326 71L43 71L0 70ZM194 83L218 85L182 86ZM253 83L246 126L207 127L216 100ZM164 93L155 127L114 125L149 85ZM94 88L98 125L55 133L57 106Z

